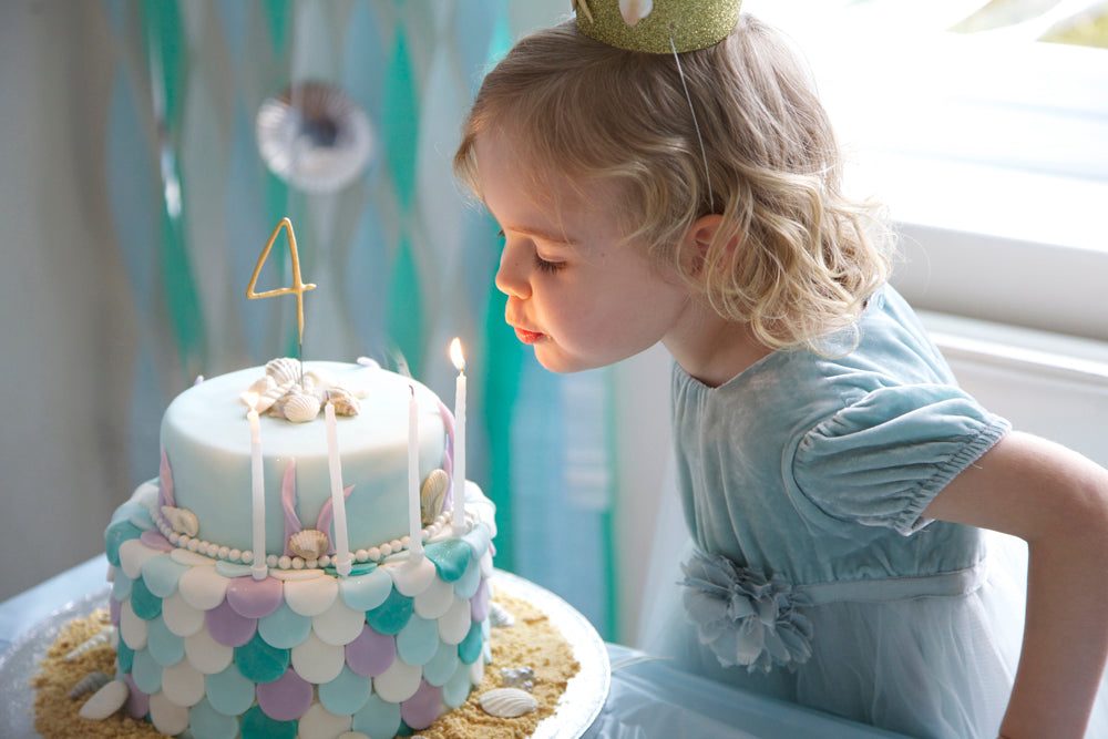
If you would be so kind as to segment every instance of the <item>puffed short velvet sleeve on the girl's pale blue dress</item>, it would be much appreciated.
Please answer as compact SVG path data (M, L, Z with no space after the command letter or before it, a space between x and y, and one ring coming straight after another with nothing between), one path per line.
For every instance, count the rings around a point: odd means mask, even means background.
M823 513L910 534L923 510L1010 425L953 386L871 391L806 433L792 471Z

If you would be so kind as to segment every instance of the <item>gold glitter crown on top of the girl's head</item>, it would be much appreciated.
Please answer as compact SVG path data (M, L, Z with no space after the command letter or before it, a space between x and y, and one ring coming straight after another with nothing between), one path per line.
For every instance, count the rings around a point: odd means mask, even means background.
M577 28L629 51L670 54L719 43L739 20L741 0L573 0Z

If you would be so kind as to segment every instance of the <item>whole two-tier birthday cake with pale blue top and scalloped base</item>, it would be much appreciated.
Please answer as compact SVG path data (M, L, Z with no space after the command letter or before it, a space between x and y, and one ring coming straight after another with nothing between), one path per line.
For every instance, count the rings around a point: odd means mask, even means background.
M349 574L335 567L322 413L260 419L267 567L250 566L250 427L239 394L264 368L174 400L158 480L141 485L105 532L115 678L130 714L163 733L403 736L464 702L490 659L492 504L469 483L458 531L449 507L438 510L452 491L430 491L423 554L407 551L412 391L421 481L449 480L432 474L451 466L449 411L427 388L376 367L305 368L322 399L341 387L360 406L336 423Z

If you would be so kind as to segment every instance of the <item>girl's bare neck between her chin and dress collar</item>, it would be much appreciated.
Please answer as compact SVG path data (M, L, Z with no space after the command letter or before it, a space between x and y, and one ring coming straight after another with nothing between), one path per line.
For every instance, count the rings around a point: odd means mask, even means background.
M686 372L709 388L773 352L758 341L749 324L726 320L706 305L690 306L688 314L663 343Z

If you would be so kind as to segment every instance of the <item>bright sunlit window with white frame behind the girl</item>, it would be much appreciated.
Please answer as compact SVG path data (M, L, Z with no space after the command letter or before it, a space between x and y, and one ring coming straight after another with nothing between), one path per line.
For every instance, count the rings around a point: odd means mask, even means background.
M743 7L811 62L916 307L1108 339L1108 3Z

